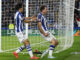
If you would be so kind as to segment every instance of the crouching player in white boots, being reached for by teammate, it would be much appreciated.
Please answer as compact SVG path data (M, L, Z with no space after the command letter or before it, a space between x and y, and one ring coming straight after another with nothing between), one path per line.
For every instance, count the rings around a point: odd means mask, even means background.
M48 52L49 52L48 58L54 58L52 56L52 52L54 48L58 45L58 41L47 29L47 18L45 17L45 15L48 12L47 6L42 5L40 7L40 11L41 12L37 16L38 28L39 28L40 34L46 41L49 41L51 43L49 49L42 54L41 58L45 56L45 54L47 54Z

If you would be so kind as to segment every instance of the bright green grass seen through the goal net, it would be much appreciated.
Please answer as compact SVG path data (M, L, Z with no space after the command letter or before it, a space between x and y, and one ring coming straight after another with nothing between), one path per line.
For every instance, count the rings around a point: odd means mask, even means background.
M56 36L56 38L58 38ZM13 48L18 48L20 47L22 44L19 43L18 39L16 36L2 36L1 37L1 41L2 41L2 50L5 51L5 50L11 50ZM29 41L30 41L30 44L31 44L31 47L33 50L35 49L38 49L38 50L46 50L50 43L48 41L45 41L40 35L36 36L36 35L30 35L29 36ZM45 43L40 43L40 42L44 42ZM62 39L58 40L59 41L59 44L60 42L64 42L65 39L62 37ZM36 44L38 43L38 44ZM62 44L62 45L61 45ZM65 43L61 43L60 45L57 46L57 48L55 49L55 51L57 50L61 50L63 47L64 47L64 44ZM10 51L9 51L10 52Z

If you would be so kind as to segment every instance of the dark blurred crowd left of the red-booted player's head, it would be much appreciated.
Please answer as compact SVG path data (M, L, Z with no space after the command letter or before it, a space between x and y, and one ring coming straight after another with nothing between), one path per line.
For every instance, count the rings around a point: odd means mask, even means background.
M10 23L14 23L16 2L24 2L24 0L2 0L2 27L8 27Z

